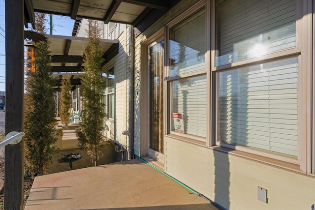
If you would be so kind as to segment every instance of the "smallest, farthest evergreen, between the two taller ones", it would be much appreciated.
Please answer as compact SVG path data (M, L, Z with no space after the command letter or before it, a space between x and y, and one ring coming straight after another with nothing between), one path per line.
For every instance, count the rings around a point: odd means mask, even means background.
M61 87L61 97L60 97L60 121L63 125L68 128L70 123L70 108L71 108L71 82L70 75L66 74L63 77L62 87Z

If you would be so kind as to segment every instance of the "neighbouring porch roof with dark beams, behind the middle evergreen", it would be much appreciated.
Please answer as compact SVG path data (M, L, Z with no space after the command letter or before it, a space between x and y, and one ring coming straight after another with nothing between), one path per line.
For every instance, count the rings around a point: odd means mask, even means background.
M88 39L76 36L46 35L48 38L51 60L51 72L56 78L56 89L61 86L63 75L70 74L71 85L80 85L83 73L84 48ZM102 66L118 54L118 40L100 39L104 62Z

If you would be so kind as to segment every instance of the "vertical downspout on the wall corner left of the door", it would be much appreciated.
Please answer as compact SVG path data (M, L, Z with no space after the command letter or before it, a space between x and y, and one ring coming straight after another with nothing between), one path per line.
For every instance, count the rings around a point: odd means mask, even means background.
M129 103L129 147L128 160L133 159L134 144L134 29L129 25L129 74L130 74L130 103Z

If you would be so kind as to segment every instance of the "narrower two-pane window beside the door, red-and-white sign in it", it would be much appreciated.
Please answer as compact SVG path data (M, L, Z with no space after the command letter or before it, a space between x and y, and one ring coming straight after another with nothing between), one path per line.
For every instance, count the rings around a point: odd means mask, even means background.
M170 131L205 142L207 136L206 15L202 7L170 27ZM180 79L172 77L180 76Z

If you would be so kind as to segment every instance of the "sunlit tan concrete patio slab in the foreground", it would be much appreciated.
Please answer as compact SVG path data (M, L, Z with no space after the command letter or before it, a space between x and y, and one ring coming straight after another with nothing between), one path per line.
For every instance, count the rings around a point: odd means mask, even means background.
M36 177L25 210L217 210L139 159Z

